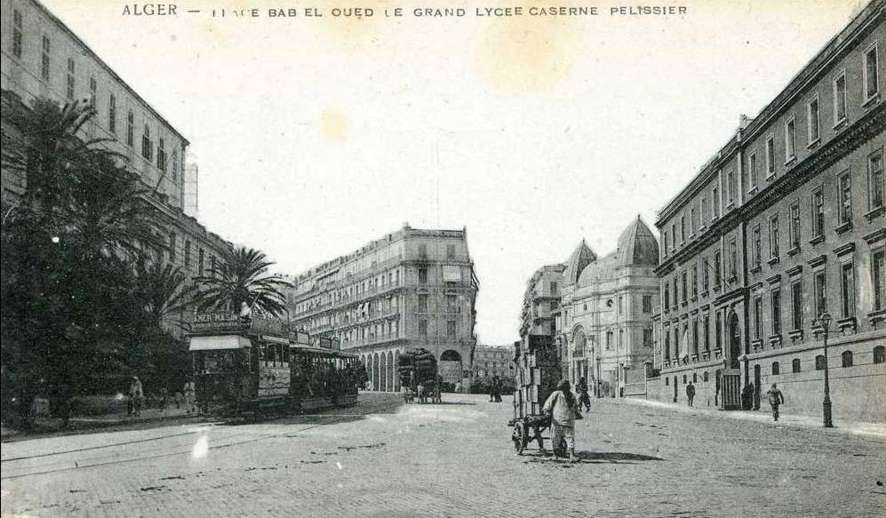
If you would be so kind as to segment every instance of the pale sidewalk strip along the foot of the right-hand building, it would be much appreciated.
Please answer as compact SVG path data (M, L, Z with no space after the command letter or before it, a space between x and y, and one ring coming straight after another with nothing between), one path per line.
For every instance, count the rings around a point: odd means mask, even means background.
M623 398L626 401L636 405L644 405L649 407L664 408L675 412L704 414L713 417L722 417L725 419L738 419L744 421L756 421L758 423L777 424L779 426L794 426L803 428L824 428L822 426L821 416L811 415L782 415L779 417L778 423L772 420L772 415L764 410L719 410L702 407L690 407L686 405L678 405L675 403L665 403L651 399L633 399ZM886 424L884 423L863 423L855 421L842 421L835 419L834 428L831 430L841 433L850 433L854 435L872 435L875 437L886 438Z

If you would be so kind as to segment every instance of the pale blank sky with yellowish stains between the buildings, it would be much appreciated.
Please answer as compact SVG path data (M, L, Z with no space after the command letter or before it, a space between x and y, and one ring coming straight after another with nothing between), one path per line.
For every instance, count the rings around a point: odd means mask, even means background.
M582 239L612 252L638 215L655 230L740 114L762 110L863 5L661 1L686 14L611 16L634 4L186 0L178 16L145 17L123 16L125 2L42 1L190 140L200 221L276 271L407 222L466 227L488 345L517 339L537 268ZM552 4L600 14L474 14ZM331 15L358 6L374 15ZM233 16L246 7L261 15ZM404 16L384 15L396 7Z

